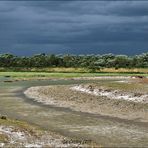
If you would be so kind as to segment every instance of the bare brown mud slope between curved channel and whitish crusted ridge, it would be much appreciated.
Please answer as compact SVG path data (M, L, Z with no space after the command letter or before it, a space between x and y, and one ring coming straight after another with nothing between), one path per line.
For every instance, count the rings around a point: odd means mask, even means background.
M87 91L82 91L78 89L80 86L86 89L89 85L38 86L31 87L24 93L26 96L44 104L67 107L76 111L148 122L148 104L146 102L143 103L144 99L139 99L140 97L138 97L138 95L141 94L135 94L134 101L128 101L122 99L122 97L120 99L113 99L113 96L96 95L96 90L94 93L94 91L90 90L91 88ZM111 90L105 93L111 93ZM118 94L118 91L115 94Z

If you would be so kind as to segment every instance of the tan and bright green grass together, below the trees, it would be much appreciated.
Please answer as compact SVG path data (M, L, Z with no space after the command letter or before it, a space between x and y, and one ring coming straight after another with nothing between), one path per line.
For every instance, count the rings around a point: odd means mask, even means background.
M50 71L50 70L51 71ZM148 76L148 69L101 69L96 72L89 72L87 69L82 68L47 68L44 72L38 68L38 71L33 69L24 72L0 72L2 77L14 77L14 78L75 78L75 77L99 77L99 76ZM40 71L41 70L41 71Z

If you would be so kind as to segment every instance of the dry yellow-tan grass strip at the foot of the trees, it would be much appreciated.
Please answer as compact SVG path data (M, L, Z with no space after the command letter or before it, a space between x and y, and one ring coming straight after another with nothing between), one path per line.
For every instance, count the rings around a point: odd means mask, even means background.
M91 73L89 68L73 67L0 67L1 72L52 72L52 73ZM96 68L94 72L101 73L148 73L148 68Z

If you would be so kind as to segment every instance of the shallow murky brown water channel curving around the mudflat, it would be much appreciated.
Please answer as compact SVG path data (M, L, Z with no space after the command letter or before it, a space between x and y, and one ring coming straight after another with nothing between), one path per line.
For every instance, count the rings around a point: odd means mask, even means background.
M148 126L146 124L43 105L23 95L23 91L31 86L79 84L90 82L89 80L43 80L13 83L3 81L4 78L0 78L0 112L2 114L39 125L65 136L93 140L102 146L148 146Z

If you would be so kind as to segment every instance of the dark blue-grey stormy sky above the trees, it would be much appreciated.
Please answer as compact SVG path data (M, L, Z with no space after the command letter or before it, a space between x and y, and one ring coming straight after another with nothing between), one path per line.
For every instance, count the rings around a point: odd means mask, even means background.
M0 1L0 53L147 51L147 1Z

